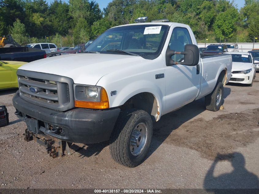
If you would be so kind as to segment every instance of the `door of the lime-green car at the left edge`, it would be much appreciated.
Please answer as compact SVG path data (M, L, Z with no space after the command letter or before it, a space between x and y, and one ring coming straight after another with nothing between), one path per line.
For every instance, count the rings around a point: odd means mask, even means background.
M12 71L11 68L0 61L0 89L11 86Z

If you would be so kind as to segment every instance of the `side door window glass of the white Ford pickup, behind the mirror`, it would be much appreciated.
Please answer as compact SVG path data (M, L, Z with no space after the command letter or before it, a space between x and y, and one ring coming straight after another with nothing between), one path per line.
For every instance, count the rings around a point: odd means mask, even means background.
M173 51L184 51L186 44L192 44L191 36L186 28L174 28L169 42L169 48ZM172 56L174 61L180 61L184 55Z

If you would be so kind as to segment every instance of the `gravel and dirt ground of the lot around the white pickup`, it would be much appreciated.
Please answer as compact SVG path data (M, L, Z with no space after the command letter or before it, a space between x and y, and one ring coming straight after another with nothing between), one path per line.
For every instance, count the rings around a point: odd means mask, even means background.
M225 87L223 110L210 112L200 99L162 116L136 168L114 162L108 142L73 144L72 155L52 159L25 142L15 92L0 91L10 114L0 128L0 188L259 188L259 73L252 87Z

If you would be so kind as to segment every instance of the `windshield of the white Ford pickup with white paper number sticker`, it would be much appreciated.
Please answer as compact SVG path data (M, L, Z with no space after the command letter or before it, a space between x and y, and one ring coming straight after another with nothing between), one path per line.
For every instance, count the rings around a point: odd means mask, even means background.
M120 49L137 55L158 55L168 28L168 25L128 25L111 28L94 40L86 52L126 54L107 51Z

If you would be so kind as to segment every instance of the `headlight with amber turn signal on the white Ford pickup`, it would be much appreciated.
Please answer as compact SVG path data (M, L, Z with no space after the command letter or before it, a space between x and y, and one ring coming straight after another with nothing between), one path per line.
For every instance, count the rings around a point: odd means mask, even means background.
M107 92L101 86L86 86L74 84L75 107L109 108Z

